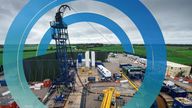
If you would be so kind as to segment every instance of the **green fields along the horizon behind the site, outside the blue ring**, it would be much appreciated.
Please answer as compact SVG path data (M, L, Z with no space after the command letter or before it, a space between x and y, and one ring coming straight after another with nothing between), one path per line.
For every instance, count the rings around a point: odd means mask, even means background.
M79 46L79 45L77 45ZM34 57L36 55L36 45L25 47L24 58ZM54 52L54 47L50 46L48 53ZM2 49L0 49L0 64L2 64ZM94 50L101 52L123 52L123 49L120 45L104 45L99 47L88 47L85 46L78 47L77 51L85 50ZM138 56L145 57L146 51L144 46L135 45L134 46L135 54ZM172 62L192 65L192 46L167 46L167 59Z

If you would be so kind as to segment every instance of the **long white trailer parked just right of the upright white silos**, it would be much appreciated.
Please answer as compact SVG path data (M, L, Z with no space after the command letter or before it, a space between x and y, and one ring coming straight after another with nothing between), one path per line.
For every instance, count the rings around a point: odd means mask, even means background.
M104 66L102 66L102 65L98 65L98 66L97 66L97 70L98 70L98 72L99 72L104 78L106 78L106 79L112 77L111 72L110 72L107 68L105 68Z

